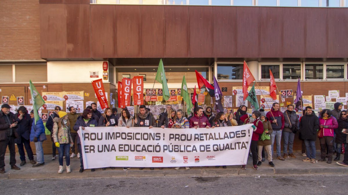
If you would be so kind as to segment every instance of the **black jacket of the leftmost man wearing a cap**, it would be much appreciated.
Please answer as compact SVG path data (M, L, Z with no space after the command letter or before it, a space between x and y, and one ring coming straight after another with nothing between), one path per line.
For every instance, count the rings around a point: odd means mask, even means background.
M10 125L15 122L13 114L10 112L8 115L4 115L0 110L0 141L7 139L7 133L10 132L12 136L18 138L17 131L15 130L17 126L10 128Z

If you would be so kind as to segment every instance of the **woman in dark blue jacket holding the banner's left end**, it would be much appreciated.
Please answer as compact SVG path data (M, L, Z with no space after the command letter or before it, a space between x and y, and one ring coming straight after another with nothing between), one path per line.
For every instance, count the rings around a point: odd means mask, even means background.
M74 130L78 131L80 130L80 127L82 129L85 129L85 127L96 127L98 126L98 122L92 118L93 112L90 109L85 109L84 112L82 113L82 116L79 117L74 125ZM81 141L80 141L80 136L77 137L77 145L79 146L79 149L82 154L82 149L81 149ZM84 162L82 160L82 156L80 157L80 163L81 163L81 168L80 168L80 173L84 172ZM95 169L90 169L92 172L95 171Z

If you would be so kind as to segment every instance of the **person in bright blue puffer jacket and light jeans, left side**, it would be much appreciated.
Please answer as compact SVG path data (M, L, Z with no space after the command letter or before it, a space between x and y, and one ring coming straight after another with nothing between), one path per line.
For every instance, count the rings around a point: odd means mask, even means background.
M33 167L41 167L45 164L44 149L42 149L42 142L47 139L45 134L45 126L44 122L42 122L40 118L35 125L33 110L30 112L30 117L32 119L30 141L35 143L36 148L36 164L34 164Z

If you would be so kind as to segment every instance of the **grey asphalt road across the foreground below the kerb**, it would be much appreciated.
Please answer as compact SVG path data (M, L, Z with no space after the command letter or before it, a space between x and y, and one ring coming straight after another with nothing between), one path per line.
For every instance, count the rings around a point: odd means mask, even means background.
M348 194L348 176L2 179L1 194Z

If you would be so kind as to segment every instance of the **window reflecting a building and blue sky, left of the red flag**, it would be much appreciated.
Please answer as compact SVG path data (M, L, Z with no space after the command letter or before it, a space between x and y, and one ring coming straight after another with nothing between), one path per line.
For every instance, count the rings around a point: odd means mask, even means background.
M243 64L217 64L218 80L242 80Z

